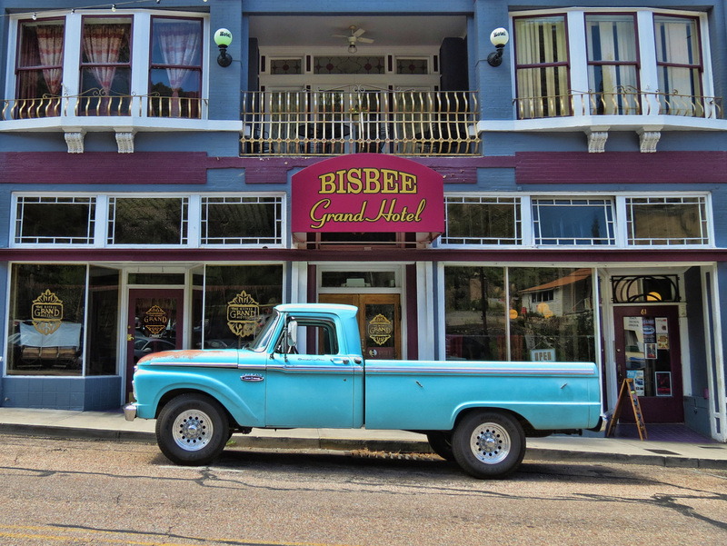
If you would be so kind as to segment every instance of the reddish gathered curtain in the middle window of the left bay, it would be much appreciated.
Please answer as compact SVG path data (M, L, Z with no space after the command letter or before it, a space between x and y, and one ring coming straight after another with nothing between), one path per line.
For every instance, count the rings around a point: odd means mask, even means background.
M84 53L89 63L100 65L92 66L91 71L106 95L114 83L114 65L119 61L124 39L128 39L127 28L128 25L85 25L84 28Z

